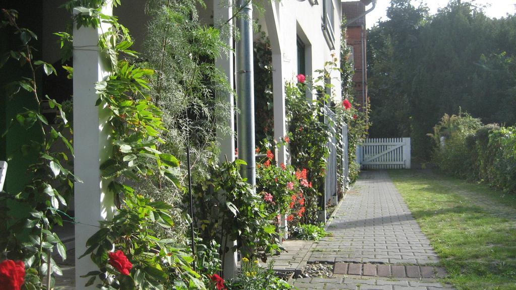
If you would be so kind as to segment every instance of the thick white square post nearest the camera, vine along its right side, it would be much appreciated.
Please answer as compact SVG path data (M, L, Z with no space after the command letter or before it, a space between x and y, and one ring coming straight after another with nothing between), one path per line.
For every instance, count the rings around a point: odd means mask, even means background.
M103 13L111 15L111 5L103 8ZM106 24L102 24L106 25ZM78 259L86 251L86 240L99 230L99 221L112 217L115 206L113 195L107 189L107 181L102 180L100 165L109 158L111 152L110 130L107 127L107 113L103 105L95 106L98 95L95 83L104 80L108 71L104 67L105 55L101 55L99 36L107 31L107 26L99 28L81 27L73 30L73 144L75 151L74 172L83 183L75 183L75 289L85 287L87 278L80 278L98 267L88 256Z

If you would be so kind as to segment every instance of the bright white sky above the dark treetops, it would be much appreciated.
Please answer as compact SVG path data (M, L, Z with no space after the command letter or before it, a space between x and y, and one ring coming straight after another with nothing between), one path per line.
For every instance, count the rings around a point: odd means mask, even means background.
M428 8L430 8L430 14L437 13L439 8L445 7L448 4L448 0L412 0L414 6L419 6L422 2L426 3ZM486 6L484 11L491 18L501 18L506 16L507 13L516 13L516 8L514 7L516 0L472 0L472 2L479 7ZM379 19L387 20L385 12L390 3L390 0L377 0L375 9L366 15L367 28L374 26ZM371 5L367 6L366 9L370 8Z

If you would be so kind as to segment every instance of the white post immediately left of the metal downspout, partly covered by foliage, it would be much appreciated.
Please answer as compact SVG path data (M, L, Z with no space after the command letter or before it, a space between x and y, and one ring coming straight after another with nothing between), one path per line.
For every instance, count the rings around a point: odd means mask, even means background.
M223 23L231 18L233 14L233 8L227 7L228 2L224 0L215 0L213 4L213 15L214 15L214 24L217 26L219 23ZM230 26L231 27L231 26ZM231 28L230 28L231 29ZM224 39L226 45L232 47L233 46L233 37L232 31L229 31L228 38ZM229 55L221 54L219 57L215 59L215 66L220 71L224 72L227 77L228 83L233 90L233 53L230 52ZM220 155L219 162L226 162L226 158L229 162L233 162L235 160L235 120L234 120L234 95L232 92L224 93L223 95L218 96L219 98L223 98L225 102L229 104L230 107L230 116L225 121L226 126L229 127L229 134L226 132L217 131L217 141L220 144ZM225 240L222 241L225 244ZM236 246L236 241L228 241L228 247ZM224 245L221 245L224 246ZM237 256L236 252L229 251L224 255L224 279L231 279L236 276L237 270Z

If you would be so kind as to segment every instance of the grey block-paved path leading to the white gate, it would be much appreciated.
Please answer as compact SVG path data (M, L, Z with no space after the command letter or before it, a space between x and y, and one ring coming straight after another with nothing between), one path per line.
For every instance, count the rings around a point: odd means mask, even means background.
M362 172L309 262L335 263L332 278L301 278L302 289L443 289L437 254L385 171ZM383 276L383 277L381 277ZM446 288L450 289L450 288Z

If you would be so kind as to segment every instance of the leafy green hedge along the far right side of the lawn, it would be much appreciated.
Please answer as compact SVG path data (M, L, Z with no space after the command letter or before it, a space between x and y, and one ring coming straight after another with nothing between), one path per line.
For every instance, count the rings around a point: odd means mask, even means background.
M516 192L516 127L482 125L462 112L445 115L428 134L437 144L433 162L446 174ZM440 138L445 141L441 143Z

